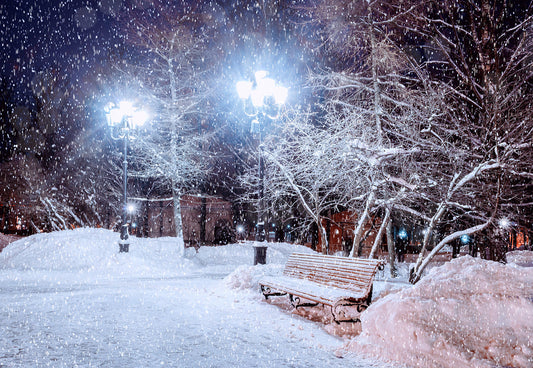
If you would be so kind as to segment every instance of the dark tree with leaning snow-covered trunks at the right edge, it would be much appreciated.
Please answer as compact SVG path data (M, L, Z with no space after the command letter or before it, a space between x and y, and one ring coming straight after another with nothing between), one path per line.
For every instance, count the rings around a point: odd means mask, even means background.
M500 185L502 177L515 182L531 177L531 4L432 2L428 9L418 15L427 25L420 28L427 66L434 68L433 78L448 79L449 108L424 131L444 142L443 153L451 159L442 160L447 187L440 187L412 282L436 250L461 234L485 229L497 214L510 215L497 208L499 203L524 202L524 193L511 194L509 186ZM465 228L443 237L426 255L436 224L450 220Z

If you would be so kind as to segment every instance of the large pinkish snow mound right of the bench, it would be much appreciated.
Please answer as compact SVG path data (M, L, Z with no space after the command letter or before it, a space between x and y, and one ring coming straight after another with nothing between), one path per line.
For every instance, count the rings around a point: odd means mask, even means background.
M533 367L533 268L469 256L362 315L347 349L422 367Z

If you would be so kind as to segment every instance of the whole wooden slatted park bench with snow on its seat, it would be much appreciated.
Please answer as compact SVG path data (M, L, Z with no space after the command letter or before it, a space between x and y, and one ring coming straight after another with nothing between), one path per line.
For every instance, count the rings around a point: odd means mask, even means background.
M346 317L343 307L356 307L361 313L372 299L372 282L384 262L376 259L293 253L283 275L259 281L261 292L270 296L289 295L294 308L331 307L335 322L359 322Z

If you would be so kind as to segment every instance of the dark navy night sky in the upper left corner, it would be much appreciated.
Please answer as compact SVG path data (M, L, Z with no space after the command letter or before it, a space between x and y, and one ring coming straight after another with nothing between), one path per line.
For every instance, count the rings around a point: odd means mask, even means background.
M0 5L1 75L19 98L43 70L72 77L115 44L120 0L15 0Z

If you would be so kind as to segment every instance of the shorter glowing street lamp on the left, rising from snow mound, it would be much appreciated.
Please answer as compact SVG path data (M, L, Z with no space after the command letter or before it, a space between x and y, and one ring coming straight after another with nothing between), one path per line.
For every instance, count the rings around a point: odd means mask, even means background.
M124 206L122 208L122 227L120 230L119 252L128 252L129 233L128 233L128 140L131 132L137 127L142 126L148 119L148 114L135 107L129 101L122 101L118 105L110 103L105 108L107 124L111 128L111 138L114 140L122 139L124 141L124 160L123 160L123 187L124 187Z

